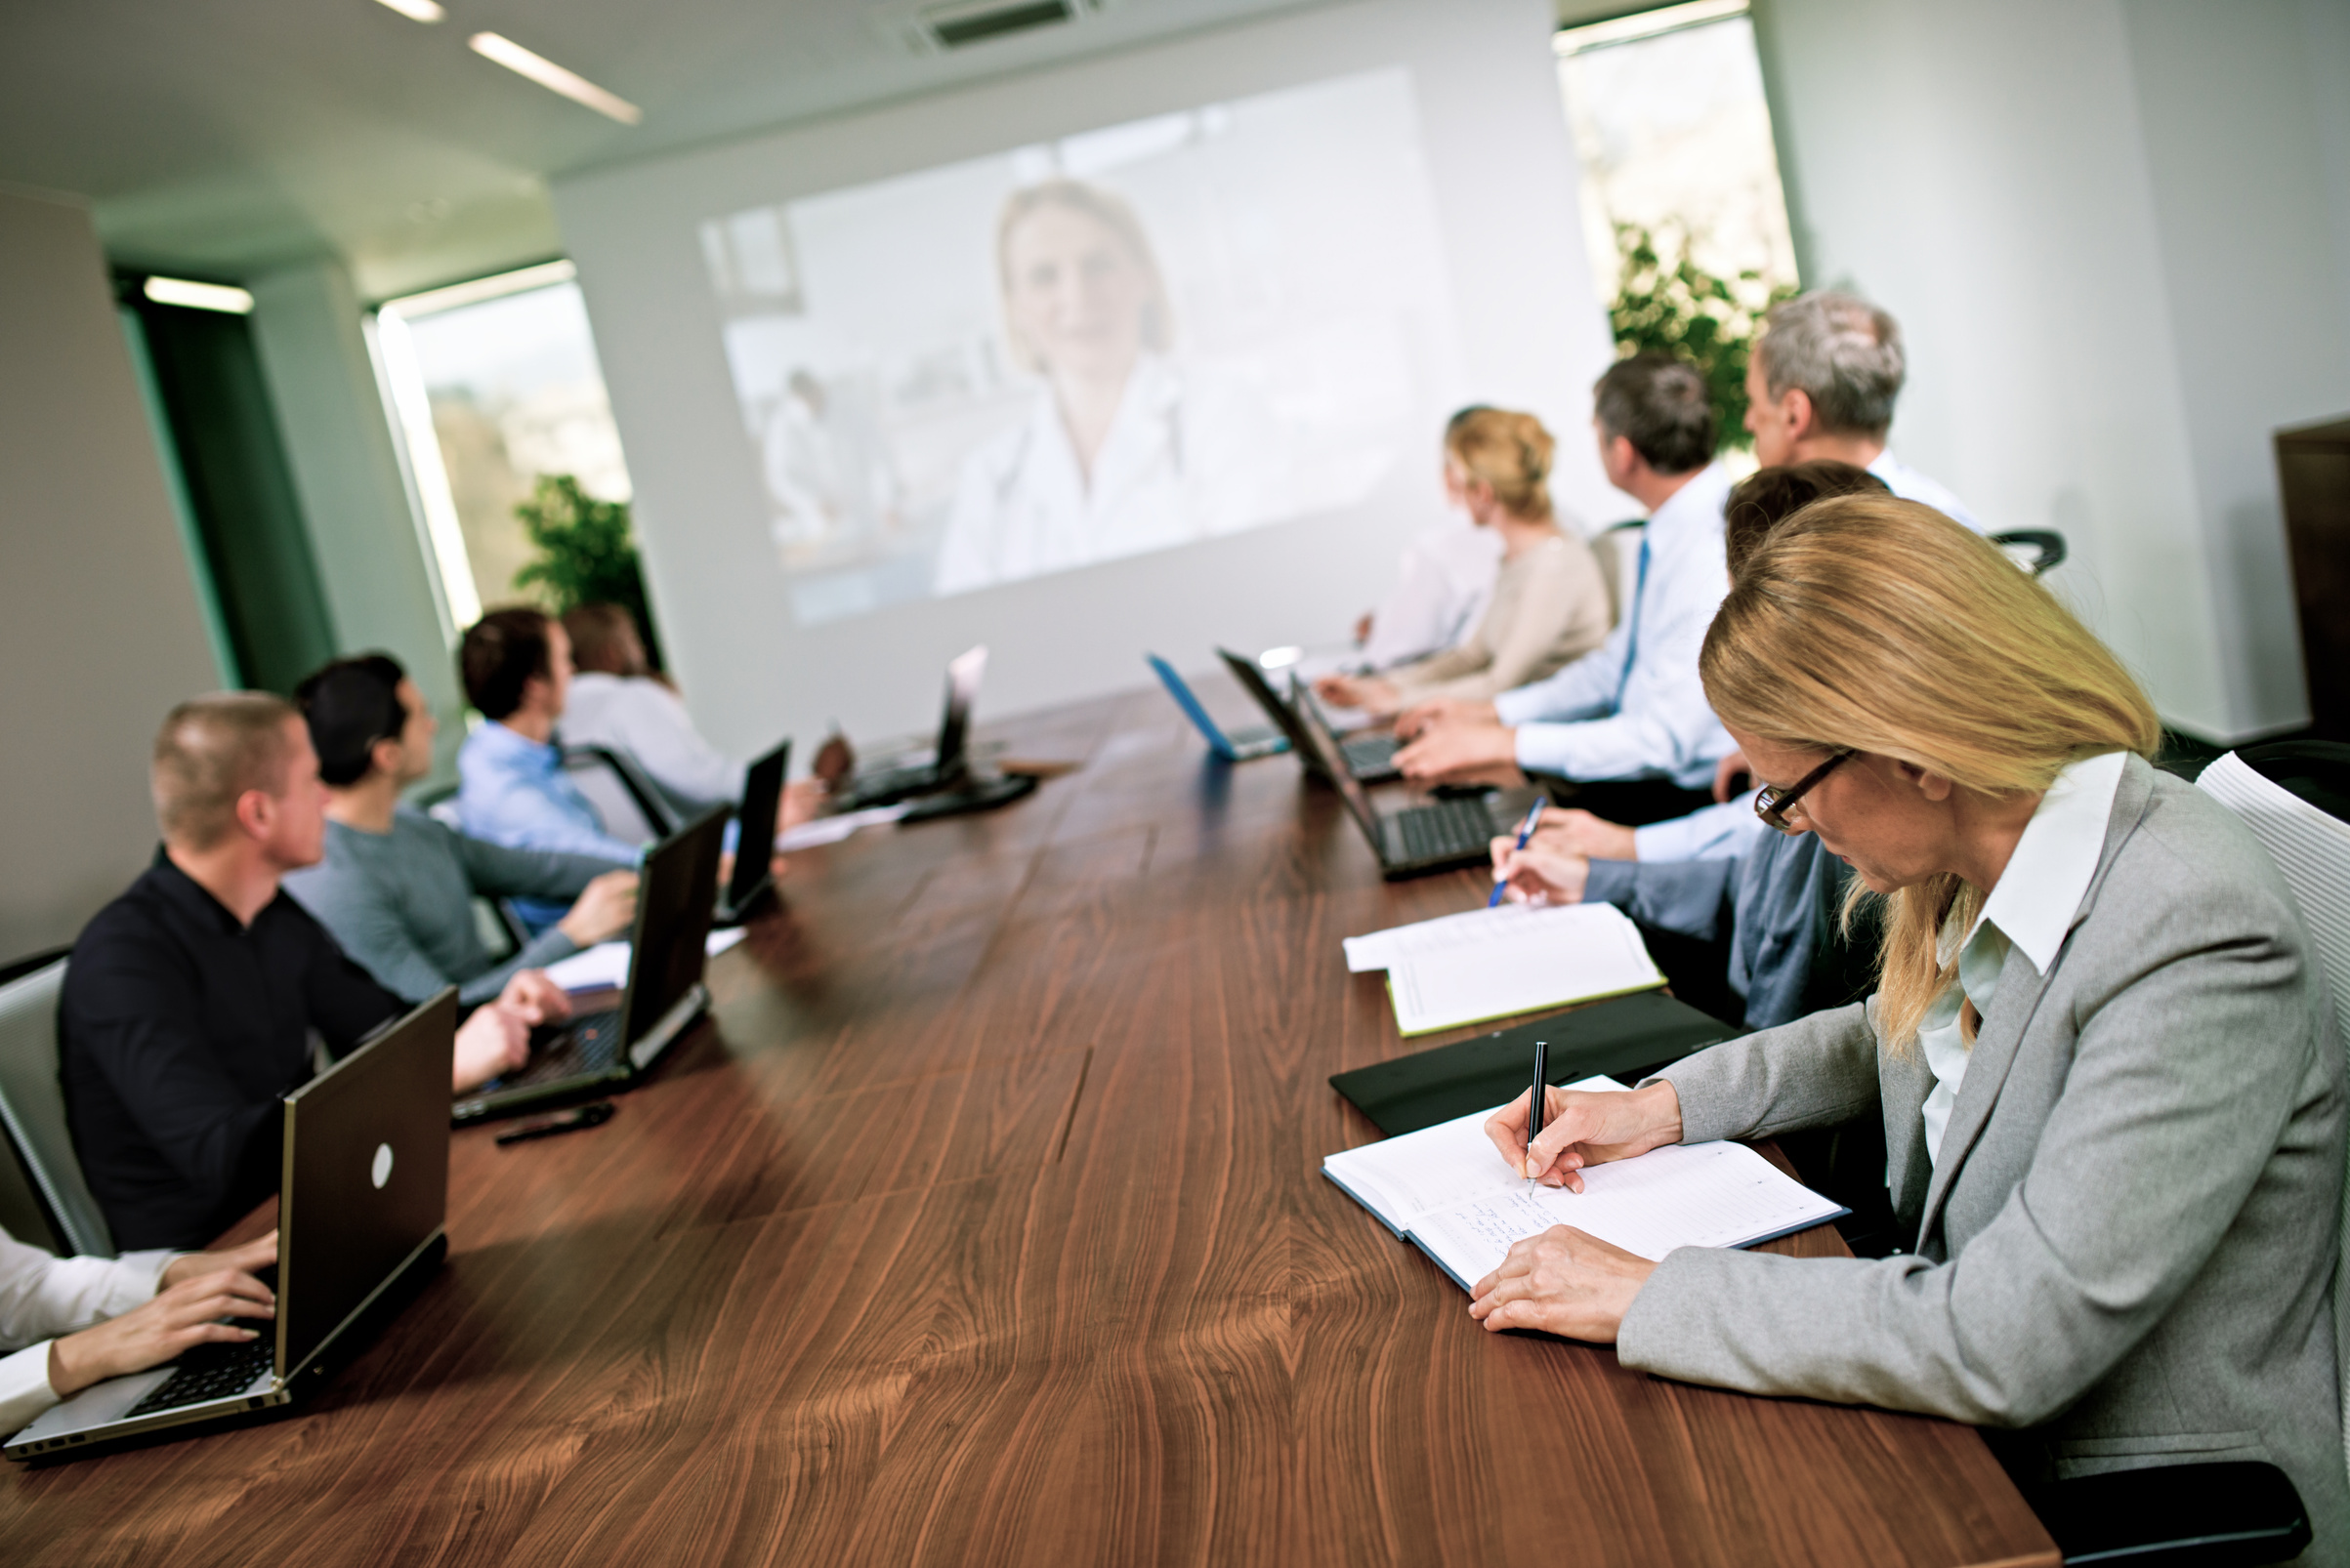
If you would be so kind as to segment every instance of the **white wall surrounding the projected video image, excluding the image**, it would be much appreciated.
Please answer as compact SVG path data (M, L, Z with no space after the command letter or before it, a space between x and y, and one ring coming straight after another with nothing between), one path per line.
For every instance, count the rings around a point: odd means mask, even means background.
M1144 649L1203 668L1215 642L1337 639L1389 585L1396 545L1441 505L1431 428L1426 470L1349 515L801 632L696 244L703 219L754 202L1401 63L1464 355L1459 386L1436 390L1448 404L1535 409L1560 435L1558 498L1591 522L1633 510L1591 454L1589 386L1612 350L1579 244L1551 26L1542 0L1332 5L559 181L656 616L705 731L750 752L785 731L813 741L830 717L867 736L921 729L935 722L942 663L971 642L992 649L985 717L1140 684Z

